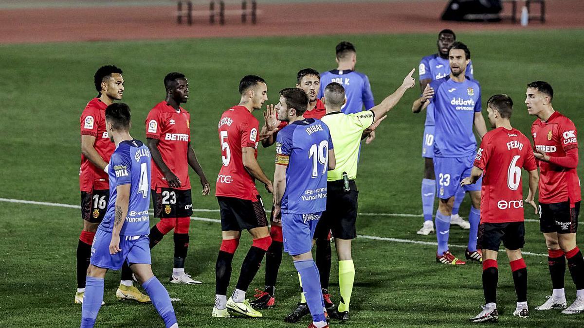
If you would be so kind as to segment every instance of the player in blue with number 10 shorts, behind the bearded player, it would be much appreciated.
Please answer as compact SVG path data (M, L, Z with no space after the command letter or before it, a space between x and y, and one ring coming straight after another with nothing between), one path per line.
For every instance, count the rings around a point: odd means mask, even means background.
M438 33L438 52L422 58L419 66L420 73L420 91L423 93L426 86L438 79L445 78L450 74L450 65L448 61L448 50L450 46L456 41L456 34L452 30L445 29ZM472 77L472 62L468 61L465 75ZM424 177L422 179L422 210L424 214L424 224L418 231L418 235L429 235L434 232L434 224L432 222L432 212L434 211L434 198L436 198L436 177L434 176L434 164L432 158L434 157L434 104L425 102L412 107L413 113L419 113L422 109L426 109L426 121L424 123L424 135L422 138L422 157L425 159ZM454 206L452 208L452 215L450 223L456 224L463 229L470 228L468 221L458 215L458 208L460 203L464 200L464 190L458 188L454 196Z

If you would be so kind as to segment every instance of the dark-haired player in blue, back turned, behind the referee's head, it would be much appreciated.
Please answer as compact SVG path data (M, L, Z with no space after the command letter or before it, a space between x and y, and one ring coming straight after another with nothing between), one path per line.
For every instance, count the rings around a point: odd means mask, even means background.
M341 111L345 114L359 113L363 110L370 110L375 103L373 92L367 75L355 71L357 64L357 51L352 43L342 41L336 45L336 69L321 74L321 86L318 90L318 99L322 99L326 86L331 82L339 83L345 88L347 103L343 105ZM366 144L375 139L375 131L369 134Z

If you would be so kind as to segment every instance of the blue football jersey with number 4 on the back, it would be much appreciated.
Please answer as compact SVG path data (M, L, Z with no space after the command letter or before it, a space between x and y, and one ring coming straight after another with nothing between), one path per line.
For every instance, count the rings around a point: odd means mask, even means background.
M150 163L148 147L140 140L122 141L112 154L109 163L110 199L100 229L112 232L115 219L117 186L130 184L128 214L120 235L148 235L150 232Z

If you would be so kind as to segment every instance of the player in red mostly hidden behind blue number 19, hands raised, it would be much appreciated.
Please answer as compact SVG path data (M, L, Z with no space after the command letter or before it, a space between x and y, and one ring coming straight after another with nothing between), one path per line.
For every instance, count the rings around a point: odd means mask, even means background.
M321 75L316 69L304 68L298 71L296 75L296 88L304 90L308 95L308 108L304 112L304 118L317 118L320 120L326 114L326 109L324 103L317 98L318 89L320 88ZM281 130L288 123L286 121L279 121L276 118L276 109L274 106L267 106L267 110L264 114L265 125L262 127L262 132L273 130L277 127L276 131ZM262 141L264 147L268 147L274 143L276 140L277 133L272 134L269 138ZM255 309L271 308L274 306L276 299L274 298L274 293L276 289L276 281L278 276L278 270L280 269L280 264L282 261L282 249L283 249L283 236L282 236L282 226L280 218L275 218L270 215L270 236L272 236L272 245L267 249L266 252L266 276L265 276L265 288L263 291L256 289L256 298L251 302L251 305ZM321 284L323 288L323 294L325 295L325 302L328 307L334 306L330 301L330 295L328 293L328 281L331 272L331 240L317 240L317 253L316 253L316 263L318 269L321 271ZM301 303L306 304L304 299L304 294L302 295ZM305 314L309 314L308 306L305 307ZM303 308L303 309L304 309Z

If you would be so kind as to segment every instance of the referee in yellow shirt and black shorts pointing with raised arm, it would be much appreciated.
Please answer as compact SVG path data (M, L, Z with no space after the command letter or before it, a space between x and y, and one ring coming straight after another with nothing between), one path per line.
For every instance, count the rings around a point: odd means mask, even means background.
M351 257L351 240L356 238L357 220L357 162L360 141L381 123L385 113L391 110L404 95L413 88L415 80L409 72L402 85L383 102L370 110L343 114L341 107L346 103L345 89L336 82L329 83L324 90L326 115L322 121L331 130L335 145L336 168L328 172L326 211L322 214L314 239L325 238L329 231L335 236L336 252L339 257L340 302L337 311L329 312L335 319L349 319L349 303L353 291L355 267Z

